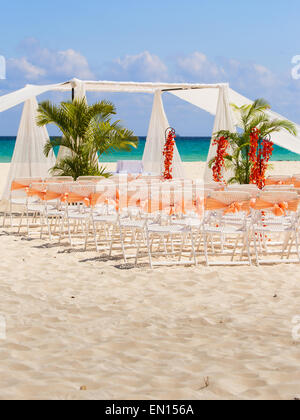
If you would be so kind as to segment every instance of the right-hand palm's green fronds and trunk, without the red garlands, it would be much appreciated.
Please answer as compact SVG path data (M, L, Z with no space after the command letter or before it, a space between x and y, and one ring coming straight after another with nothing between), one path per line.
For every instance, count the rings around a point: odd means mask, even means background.
M229 184L249 184L252 163L249 159L250 135L253 129L260 130L260 138L267 138L269 135L285 130L297 135L295 125L288 120L271 119L267 111L271 109L270 104L264 99L257 99L252 105L238 107L232 105L239 116L239 127L242 130L232 133L227 130L214 134L215 139L225 137L231 146L232 153L225 156L225 169L231 170L234 176L228 181ZM213 166L215 159L209 163Z

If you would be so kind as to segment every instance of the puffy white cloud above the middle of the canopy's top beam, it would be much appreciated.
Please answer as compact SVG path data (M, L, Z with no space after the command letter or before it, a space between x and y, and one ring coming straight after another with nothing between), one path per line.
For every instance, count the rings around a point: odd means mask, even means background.
M168 69L157 55L144 51L112 61L108 64L106 76L115 80L160 82L167 80Z

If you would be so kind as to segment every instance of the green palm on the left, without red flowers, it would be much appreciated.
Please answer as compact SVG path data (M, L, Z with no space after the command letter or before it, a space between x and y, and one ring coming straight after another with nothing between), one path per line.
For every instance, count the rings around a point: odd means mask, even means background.
M72 176L104 176L110 173L99 166L98 158L113 150L130 151L138 145L138 138L124 128L120 121L112 121L115 106L108 101L88 105L85 99L62 102L59 106L49 101L39 104L37 125L55 124L62 133L47 142L46 156L56 147L66 154L51 169L52 174Z

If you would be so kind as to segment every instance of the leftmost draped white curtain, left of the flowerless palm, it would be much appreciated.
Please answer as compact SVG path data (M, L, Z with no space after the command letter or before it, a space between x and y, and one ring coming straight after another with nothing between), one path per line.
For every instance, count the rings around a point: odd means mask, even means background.
M49 170L55 165L55 156L50 152L46 157L44 146L49 140L46 127L36 124L38 103L35 97L24 104L21 124L6 187L2 199L7 200L10 195L11 183L15 178L31 178L49 176Z

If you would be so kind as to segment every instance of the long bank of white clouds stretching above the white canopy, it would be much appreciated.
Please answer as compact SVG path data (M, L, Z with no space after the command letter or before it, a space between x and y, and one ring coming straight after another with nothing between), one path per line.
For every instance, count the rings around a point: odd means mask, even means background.
M300 82L292 80L290 71L277 74L261 63L211 58L201 51L169 57L168 62L164 62L159 56L143 51L118 57L106 64L99 62L98 66L101 70L94 74L87 58L75 49L56 51L28 38L20 45L19 57L7 60L7 80L1 88L11 91L31 81L56 83L73 77L137 82L229 82L233 89L245 96L251 99L264 97L275 110L299 120ZM141 103L131 100L135 110L143 109L143 98L139 99ZM147 112L148 108L149 104Z

